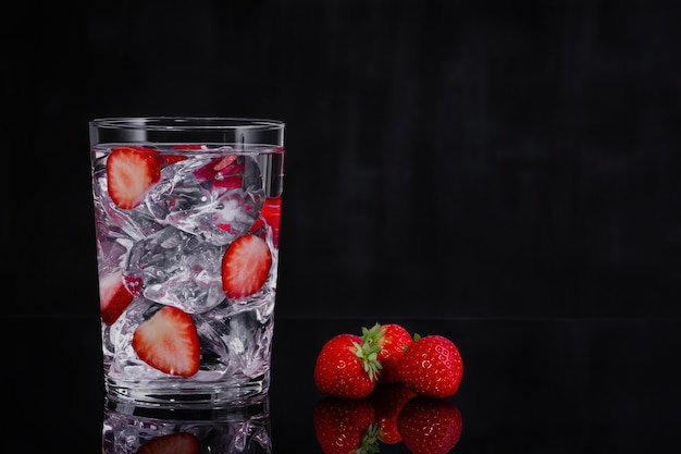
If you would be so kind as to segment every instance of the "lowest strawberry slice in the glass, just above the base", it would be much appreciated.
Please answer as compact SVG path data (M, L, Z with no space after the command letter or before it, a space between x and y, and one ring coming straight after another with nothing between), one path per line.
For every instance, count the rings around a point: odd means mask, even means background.
M190 377L199 370L199 338L191 316L165 306L137 327L133 348L149 366L171 376Z

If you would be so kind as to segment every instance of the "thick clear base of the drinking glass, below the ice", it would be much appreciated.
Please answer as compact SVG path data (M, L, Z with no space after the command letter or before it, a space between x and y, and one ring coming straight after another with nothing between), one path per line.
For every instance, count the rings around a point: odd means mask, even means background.
M268 401L270 378L248 381L197 383L187 385L149 385L145 383L106 382L106 406L116 413L174 418L219 417L239 407L258 406Z

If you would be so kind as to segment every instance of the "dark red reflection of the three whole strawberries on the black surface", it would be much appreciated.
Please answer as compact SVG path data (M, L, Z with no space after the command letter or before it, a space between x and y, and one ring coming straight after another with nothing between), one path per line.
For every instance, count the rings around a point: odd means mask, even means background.
M451 401L419 396L401 383L379 385L362 400L322 397L312 419L325 454L375 453L398 443L414 454L445 454L462 429Z

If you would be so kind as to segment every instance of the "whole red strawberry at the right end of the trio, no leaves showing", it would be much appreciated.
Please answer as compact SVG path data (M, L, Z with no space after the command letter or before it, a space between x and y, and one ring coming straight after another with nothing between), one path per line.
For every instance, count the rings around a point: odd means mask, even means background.
M442 335L414 336L397 364L399 379L413 392L446 398L459 389L463 363L457 346Z

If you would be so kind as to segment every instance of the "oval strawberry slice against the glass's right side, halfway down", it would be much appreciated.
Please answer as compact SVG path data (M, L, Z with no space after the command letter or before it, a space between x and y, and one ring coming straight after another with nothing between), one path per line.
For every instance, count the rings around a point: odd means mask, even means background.
M262 287L272 267L270 247L259 236L236 238L222 256L222 289L230 298L240 298Z

